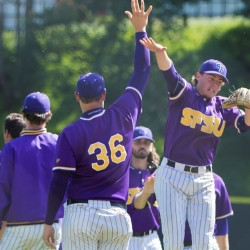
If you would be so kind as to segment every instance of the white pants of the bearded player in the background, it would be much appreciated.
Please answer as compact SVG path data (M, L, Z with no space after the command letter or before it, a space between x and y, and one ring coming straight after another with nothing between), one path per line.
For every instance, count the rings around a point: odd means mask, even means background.
M129 250L162 250L157 232L142 237L131 237Z

